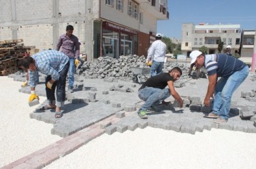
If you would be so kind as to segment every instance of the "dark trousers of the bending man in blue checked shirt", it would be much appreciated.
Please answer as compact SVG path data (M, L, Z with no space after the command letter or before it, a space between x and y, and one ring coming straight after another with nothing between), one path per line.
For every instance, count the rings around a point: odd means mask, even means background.
M59 72L60 78L52 84L52 89L47 88L46 84L52 79L51 75L47 75L45 81L46 97L51 104L55 103L55 89L58 102L65 101L65 83L67 78L67 72L69 71L69 63L67 63L62 71Z

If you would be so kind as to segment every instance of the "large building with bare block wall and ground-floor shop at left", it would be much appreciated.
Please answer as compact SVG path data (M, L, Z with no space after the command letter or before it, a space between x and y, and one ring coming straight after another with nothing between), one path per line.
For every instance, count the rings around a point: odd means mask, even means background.
M157 20L169 19L167 0L1 0L0 41L23 39L40 50L56 48L73 25L87 60L146 55Z

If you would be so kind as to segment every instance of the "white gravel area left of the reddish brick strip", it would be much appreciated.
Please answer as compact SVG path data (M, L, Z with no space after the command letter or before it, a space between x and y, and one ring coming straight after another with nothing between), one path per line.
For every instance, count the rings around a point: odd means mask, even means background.
M30 119L29 94L19 92L21 82L0 76L0 167L54 143L62 137L51 134L52 124ZM40 103L46 97L40 97Z

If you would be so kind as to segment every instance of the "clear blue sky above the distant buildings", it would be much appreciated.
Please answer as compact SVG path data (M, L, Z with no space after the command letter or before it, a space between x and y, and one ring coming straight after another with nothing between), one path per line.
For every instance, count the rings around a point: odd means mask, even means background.
M256 0L168 0L169 20L157 21L157 33L181 38L182 23L240 24L256 29Z

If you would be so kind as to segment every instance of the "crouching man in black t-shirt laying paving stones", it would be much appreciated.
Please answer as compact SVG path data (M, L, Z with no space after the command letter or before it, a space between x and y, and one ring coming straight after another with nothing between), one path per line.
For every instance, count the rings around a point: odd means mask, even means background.
M183 100L180 95L174 89L174 81L178 80L182 75L181 69L178 67L169 70L169 73L161 73L150 77L143 83L141 88L139 88L139 98L145 101L141 106L137 114L141 119L147 119L146 110L150 108L154 103L163 101L170 97L174 97L179 104L180 108L183 106ZM165 88L166 86L169 88Z

